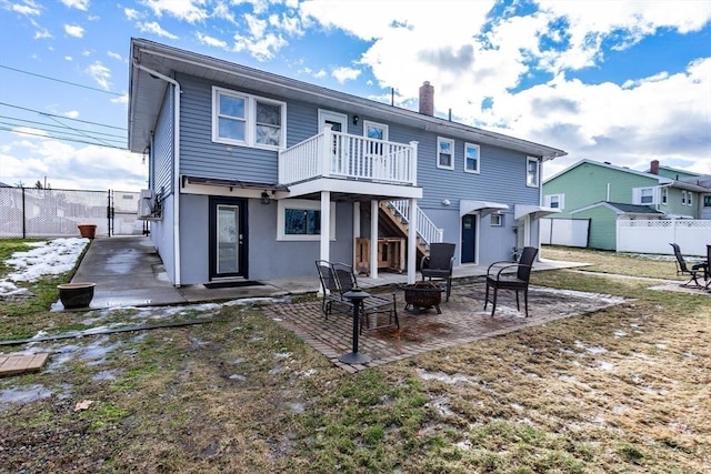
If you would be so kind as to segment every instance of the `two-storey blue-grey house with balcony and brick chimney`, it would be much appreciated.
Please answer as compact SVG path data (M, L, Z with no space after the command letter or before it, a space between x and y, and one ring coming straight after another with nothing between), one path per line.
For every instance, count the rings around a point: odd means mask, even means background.
M433 117L427 82L417 112L141 39L131 58L140 208L176 285L316 278L319 259L377 278L378 238L403 239L413 282L430 242L510 260L557 212L541 168L565 152Z

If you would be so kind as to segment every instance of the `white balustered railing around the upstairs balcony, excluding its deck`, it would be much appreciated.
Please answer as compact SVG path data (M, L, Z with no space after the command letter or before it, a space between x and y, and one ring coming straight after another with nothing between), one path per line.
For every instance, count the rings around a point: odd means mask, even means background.
M279 183L340 178L414 185L417 145L334 132L327 125L318 135L279 153Z

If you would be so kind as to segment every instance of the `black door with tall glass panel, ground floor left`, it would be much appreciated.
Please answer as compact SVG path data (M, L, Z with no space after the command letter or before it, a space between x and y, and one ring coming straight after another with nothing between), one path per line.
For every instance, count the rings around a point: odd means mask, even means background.
M210 280L248 278L247 200L210 199Z

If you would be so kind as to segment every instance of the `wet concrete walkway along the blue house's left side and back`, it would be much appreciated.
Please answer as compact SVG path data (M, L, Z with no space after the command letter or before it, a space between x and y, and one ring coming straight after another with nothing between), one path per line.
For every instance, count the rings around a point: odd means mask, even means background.
M534 271L582 266L580 263L541 261ZM452 286L481 280L487 266L461 265L454 268ZM420 276L418 275L418 279ZM97 238L91 241L72 282L94 282L91 309L118 306L154 306L244 297L277 297L309 294L319 291L319 279L313 275L297 279L261 281L259 286L208 289L204 285L176 288L169 281L162 261L151 240L142 235ZM380 272L378 279L359 276L362 289L405 284L407 275ZM62 310L58 303L56 310Z

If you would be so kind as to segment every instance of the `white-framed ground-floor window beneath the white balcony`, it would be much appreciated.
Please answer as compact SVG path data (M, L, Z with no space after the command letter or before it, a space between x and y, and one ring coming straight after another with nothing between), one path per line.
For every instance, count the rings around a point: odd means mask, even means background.
M321 239L321 202L306 199L277 201L277 240L318 241ZM336 240L336 203L330 205L329 239Z

